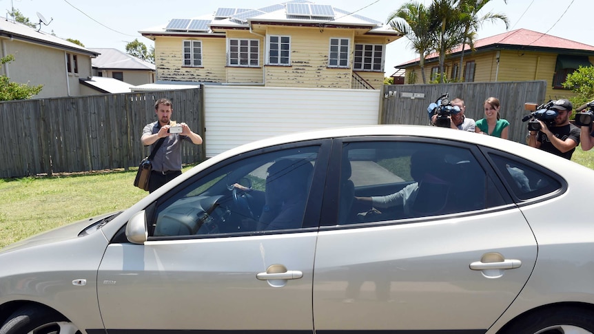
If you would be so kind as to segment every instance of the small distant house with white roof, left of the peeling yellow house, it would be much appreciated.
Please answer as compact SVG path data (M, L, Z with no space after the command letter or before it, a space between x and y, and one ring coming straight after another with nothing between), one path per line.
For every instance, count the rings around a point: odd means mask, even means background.
M93 76L114 78L132 85L154 83L155 65L110 48L90 48L99 56L92 60Z

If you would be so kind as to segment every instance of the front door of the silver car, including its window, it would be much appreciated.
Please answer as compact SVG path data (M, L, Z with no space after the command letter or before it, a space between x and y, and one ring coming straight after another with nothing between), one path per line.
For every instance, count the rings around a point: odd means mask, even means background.
M101 262L97 290L107 333L312 333L311 289L323 190L318 185L324 183L326 146L319 142L245 154L201 172L148 207L149 240L112 243ZM293 161L289 169L303 161L313 167L301 181L309 188L305 213L302 209L298 216L303 224L258 230L245 220L249 211L263 214L260 200L279 160ZM233 193L237 182L249 189ZM215 200L217 205L207 204ZM246 201L249 209L241 207ZM201 226L194 226L196 222Z

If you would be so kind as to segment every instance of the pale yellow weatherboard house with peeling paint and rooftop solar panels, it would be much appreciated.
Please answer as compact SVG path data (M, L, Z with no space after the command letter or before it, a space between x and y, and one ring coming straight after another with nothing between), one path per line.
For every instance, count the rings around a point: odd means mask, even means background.
M380 21L310 1L213 9L140 31L154 41L158 83L378 89L386 46L401 37Z

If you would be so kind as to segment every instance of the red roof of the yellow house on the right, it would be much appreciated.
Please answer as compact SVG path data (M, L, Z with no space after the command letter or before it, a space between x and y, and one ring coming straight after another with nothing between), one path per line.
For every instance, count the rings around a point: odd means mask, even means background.
M535 32L528 29L512 30L510 32L504 32L503 34L497 34L484 39L478 39L474 43L476 52L487 51L487 50L529 50L529 51L549 51L549 52L568 52L571 54L584 54L594 55L594 46L569 39L562 39L561 37L552 36L549 34L543 34L542 32ZM571 52L570 52L571 51ZM462 45L452 50L450 56L455 56L462 52ZM466 45L464 52L470 52L469 45ZM439 56L439 53L429 54L425 59L435 59ZM420 58L407 61L399 67L409 67L416 65Z

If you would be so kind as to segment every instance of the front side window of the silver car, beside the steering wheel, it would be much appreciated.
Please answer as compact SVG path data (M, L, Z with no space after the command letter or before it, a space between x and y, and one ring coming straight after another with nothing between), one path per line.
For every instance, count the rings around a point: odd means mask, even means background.
M151 236L253 233L302 226L319 146L244 158L190 179L159 204Z

